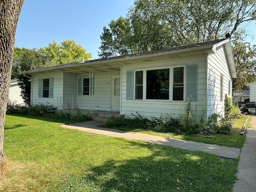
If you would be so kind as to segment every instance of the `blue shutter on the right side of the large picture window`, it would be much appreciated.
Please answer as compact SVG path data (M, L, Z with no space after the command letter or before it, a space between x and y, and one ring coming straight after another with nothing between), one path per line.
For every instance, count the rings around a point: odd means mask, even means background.
M187 66L187 98L197 100L197 64Z

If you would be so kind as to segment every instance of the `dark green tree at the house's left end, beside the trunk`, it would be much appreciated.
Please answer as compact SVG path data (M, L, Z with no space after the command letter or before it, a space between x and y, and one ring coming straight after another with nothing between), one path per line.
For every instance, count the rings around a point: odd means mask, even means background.
M12 78L18 79L18 86L22 89L21 96L26 104L30 104L31 80L21 72L43 68L45 62L44 56L35 48L14 48Z

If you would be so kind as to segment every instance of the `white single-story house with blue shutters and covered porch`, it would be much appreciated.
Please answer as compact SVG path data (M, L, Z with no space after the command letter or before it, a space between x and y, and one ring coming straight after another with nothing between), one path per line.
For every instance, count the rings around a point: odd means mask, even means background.
M118 111L159 118L192 105L202 114L224 114L236 69L230 39L106 59L72 62L24 72L30 75L31 104Z

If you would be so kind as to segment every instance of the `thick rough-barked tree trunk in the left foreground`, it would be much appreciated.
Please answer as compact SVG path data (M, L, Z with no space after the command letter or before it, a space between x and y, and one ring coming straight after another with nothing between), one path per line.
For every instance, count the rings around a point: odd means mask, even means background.
M24 0L0 1L0 168L4 163L4 120L12 73L14 40L23 2Z

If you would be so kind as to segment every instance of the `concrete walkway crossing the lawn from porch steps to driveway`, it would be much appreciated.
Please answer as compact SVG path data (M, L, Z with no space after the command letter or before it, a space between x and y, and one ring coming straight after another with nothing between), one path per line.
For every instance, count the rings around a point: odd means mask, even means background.
M205 143L198 143L192 141L178 140L167 137L153 136L142 133L128 132L128 131L120 131L116 129L108 129L108 128L100 128L98 126L102 125L102 121L88 121L75 123L70 125L62 125L64 128L76 129L84 132L89 132L93 134L101 134L110 137L119 137L126 138L129 140L139 140L148 143L161 144L172 146L179 149L186 149L191 151L202 151L208 152L211 154L218 155L222 158L238 158L240 154L240 149L238 148L229 148L218 145L211 145Z

